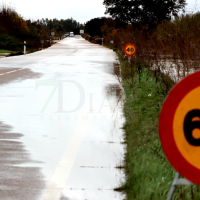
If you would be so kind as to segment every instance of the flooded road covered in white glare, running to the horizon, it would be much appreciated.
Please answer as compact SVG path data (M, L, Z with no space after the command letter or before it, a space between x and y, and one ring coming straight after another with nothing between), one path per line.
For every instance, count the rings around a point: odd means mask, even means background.
M0 199L123 199L115 62L80 36L0 60Z

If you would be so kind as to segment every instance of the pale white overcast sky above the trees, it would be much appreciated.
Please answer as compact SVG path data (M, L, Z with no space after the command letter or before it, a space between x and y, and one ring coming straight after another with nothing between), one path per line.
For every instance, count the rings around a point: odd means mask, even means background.
M89 21L95 17L105 16L103 0L0 0L0 3L11 4L25 19L73 18L80 23ZM187 0L188 9L200 10L200 0Z

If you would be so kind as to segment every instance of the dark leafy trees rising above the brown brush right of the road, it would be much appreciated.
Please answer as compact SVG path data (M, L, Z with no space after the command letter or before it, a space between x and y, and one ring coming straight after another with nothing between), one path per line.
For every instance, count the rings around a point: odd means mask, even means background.
M186 0L104 0L103 4L105 14L111 18L94 18L86 22L85 31L92 37L102 36L106 28L121 29L130 24L151 31L163 21L170 21L177 18L180 12L184 13Z

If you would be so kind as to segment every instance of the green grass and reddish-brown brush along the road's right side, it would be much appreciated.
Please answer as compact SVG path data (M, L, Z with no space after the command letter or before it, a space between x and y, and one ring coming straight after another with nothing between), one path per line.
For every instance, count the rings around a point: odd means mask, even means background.
M86 23L88 31L83 37L91 42L102 37L104 46L116 51L121 66L119 80L125 91L127 148L121 167L126 182L116 191L124 192L128 200L166 199L175 170L161 148L159 113L171 88L199 70L200 13L136 25L105 18L100 29L100 35L92 35ZM123 52L128 43L137 47L136 56L129 61ZM200 199L199 191L199 186L178 186L173 200Z

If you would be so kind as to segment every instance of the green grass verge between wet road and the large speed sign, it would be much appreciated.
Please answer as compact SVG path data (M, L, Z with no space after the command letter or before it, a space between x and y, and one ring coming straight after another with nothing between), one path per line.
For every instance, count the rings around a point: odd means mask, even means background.
M166 93L174 83L164 75L155 76L155 72L146 68L143 63L140 82L135 66L131 86L130 71L124 73L128 64L122 58L120 60L122 74L125 74L124 139L127 149L123 167L126 182L116 190L126 193L128 200L164 200L175 170L161 148L158 118ZM200 199L198 190L197 186L179 186L173 199Z

